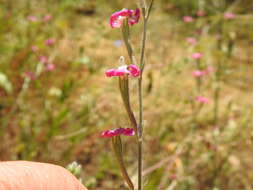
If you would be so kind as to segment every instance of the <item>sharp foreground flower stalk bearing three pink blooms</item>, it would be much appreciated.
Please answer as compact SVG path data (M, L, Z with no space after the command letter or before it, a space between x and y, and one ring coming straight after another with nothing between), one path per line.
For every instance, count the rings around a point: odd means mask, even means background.
M113 149L115 156L119 163L121 173L125 179L128 187L134 190L134 185L127 173L123 162L122 144L119 135L133 136L135 135L138 147L138 190L142 190L142 141L143 141L143 96L142 96L142 74L145 67L145 49L147 38L147 23L149 20L150 12L152 9L153 1L150 1L149 6L146 6L146 0L140 0L141 10L122 9L110 17L110 25L112 28L121 28L124 44L127 49L130 64L125 64L118 68L109 69L106 71L107 77L118 77L119 89L123 100L124 107L130 120L131 128L118 128L109 130L102 133L101 137L112 138ZM135 58L132 45L130 43L130 26L139 22L140 15L143 18L143 32L141 41L141 53L139 63ZM131 77L138 78L138 100L139 100L139 121L137 122L134 112L132 111L129 95L129 79Z

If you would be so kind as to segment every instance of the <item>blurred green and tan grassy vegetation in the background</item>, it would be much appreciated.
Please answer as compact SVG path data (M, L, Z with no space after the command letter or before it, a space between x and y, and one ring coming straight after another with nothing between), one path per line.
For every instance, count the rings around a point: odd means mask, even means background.
M90 190L126 188L109 140L99 138L103 130L128 126L117 80L104 75L126 55L108 22L123 7L136 3L0 0L1 160L77 161ZM198 17L200 10L205 15ZM144 77L145 190L253 189L252 11L252 0L155 2ZM224 19L225 12L236 18ZM184 23L186 15L195 21ZM137 52L139 31L141 24L132 28ZM49 38L55 43L46 44ZM194 52L204 54L202 68L215 70L200 92L191 74ZM137 108L137 81L131 82ZM210 102L196 102L197 95ZM136 148L131 138L124 141L135 179Z

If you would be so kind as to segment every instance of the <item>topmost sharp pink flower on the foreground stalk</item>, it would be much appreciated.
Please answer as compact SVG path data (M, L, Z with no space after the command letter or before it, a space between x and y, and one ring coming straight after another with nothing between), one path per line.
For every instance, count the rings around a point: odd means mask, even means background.
M136 10L129 10L129 9L122 9L121 11L115 12L110 17L110 25L112 28L120 28L123 20L128 18L128 24L134 25L138 23L140 18L140 9L137 8Z

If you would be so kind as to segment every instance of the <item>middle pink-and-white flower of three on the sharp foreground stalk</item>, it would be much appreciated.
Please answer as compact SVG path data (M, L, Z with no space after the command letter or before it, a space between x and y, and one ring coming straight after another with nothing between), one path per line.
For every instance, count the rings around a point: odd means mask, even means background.
M107 77L125 76L130 75L132 77L138 77L140 75L140 69L136 65L123 65L117 69L109 69L105 72Z

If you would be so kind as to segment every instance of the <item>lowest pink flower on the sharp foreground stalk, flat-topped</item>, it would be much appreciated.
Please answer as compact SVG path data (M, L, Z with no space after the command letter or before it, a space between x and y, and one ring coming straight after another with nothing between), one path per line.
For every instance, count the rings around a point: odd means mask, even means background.
M132 128L117 128L102 132L101 137L111 138L118 135L134 136L135 131Z

